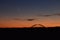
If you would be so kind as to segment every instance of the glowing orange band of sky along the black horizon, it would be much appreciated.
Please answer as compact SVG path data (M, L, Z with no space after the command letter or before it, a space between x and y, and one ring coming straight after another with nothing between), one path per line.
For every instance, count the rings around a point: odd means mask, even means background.
M14 20L1 20L0 28L13 28L13 27L31 27L34 24L42 24L46 27L60 26L60 22L51 22L51 21L14 21Z

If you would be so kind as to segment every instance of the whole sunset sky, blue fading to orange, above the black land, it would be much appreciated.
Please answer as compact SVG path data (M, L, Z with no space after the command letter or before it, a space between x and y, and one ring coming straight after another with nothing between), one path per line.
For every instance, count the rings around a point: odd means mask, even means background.
M0 27L60 26L60 0L0 0Z

